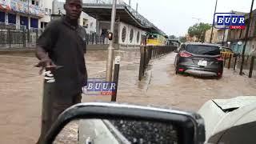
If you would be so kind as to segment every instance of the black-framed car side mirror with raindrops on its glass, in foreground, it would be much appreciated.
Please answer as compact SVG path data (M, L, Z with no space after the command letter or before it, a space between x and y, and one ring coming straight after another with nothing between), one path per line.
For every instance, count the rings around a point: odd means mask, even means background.
M78 143L155 143L157 140L156 143L202 144L206 138L204 121L199 114L89 102L65 110L46 134L44 142L53 143L62 129L74 121L78 127Z

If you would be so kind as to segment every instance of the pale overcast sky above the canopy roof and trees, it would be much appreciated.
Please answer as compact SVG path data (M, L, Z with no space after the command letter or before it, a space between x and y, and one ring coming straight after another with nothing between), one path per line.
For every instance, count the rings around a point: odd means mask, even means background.
M129 3L129 0L124 0ZM166 34L185 35L187 29L198 22L212 23L215 0L131 0L138 12ZM256 9L254 2L254 9ZM251 0L218 0L217 12L230 10L250 12Z

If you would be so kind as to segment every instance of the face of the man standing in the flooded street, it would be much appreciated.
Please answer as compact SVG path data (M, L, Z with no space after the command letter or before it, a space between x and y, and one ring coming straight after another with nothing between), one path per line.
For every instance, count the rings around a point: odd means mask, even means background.
M66 0L64 8L68 18L77 20L82 13L82 0Z

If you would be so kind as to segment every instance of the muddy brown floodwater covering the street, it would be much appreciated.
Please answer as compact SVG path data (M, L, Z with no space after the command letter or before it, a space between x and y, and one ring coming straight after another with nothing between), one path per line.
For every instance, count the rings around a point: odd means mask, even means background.
M88 51L89 78L105 78L106 51ZM224 71L222 79L174 74L174 53L150 62L146 78L138 82L139 51L118 51L122 56L118 102L198 110L212 98L256 95L256 79ZM42 76L34 54L0 55L0 143L37 141L42 106ZM83 102L110 102L109 96L83 96Z

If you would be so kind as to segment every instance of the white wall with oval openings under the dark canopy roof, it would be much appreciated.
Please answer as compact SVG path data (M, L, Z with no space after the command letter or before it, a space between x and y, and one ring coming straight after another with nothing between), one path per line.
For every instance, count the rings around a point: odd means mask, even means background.
M126 40L125 42L122 42L122 30L126 27ZM145 34L146 32L144 30L138 29L135 26L130 26L124 22L120 22L119 26L119 44L122 46L140 46L142 42L142 34ZM134 38L132 42L130 42L130 31L134 30ZM139 32L139 40L137 41L137 35Z

